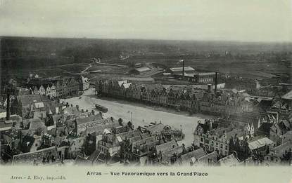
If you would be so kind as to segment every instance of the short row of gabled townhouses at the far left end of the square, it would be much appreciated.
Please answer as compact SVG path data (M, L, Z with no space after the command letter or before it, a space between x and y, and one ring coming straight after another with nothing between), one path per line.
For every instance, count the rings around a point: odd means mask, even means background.
M65 77L56 80L42 80L25 83L32 95L45 95L50 98L62 98L77 95L80 83L73 77Z

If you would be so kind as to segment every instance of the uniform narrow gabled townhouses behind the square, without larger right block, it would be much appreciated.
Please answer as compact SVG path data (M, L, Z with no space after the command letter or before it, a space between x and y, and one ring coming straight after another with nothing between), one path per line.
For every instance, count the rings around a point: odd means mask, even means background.
M127 81L100 80L96 82L96 93L110 97L158 104L187 111L198 111L197 96L186 90L166 89L161 85L139 85Z

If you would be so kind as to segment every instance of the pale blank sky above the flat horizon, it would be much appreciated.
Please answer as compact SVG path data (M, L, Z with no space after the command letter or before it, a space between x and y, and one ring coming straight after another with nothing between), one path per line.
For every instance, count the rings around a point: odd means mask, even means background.
M292 0L0 1L0 36L292 41Z

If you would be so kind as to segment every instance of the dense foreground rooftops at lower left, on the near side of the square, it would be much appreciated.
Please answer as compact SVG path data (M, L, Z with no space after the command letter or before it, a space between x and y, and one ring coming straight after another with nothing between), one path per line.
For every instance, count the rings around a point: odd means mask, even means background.
M101 111L43 95L15 95L8 106L0 119L1 163L6 164L148 164L158 158L151 158L156 147L184 138L182 129L163 123L134 128L130 121L103 118Z

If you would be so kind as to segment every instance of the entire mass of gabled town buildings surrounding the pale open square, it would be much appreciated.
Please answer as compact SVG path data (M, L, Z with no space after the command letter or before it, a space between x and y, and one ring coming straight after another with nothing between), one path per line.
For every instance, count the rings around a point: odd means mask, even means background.
M42 83L46 81L51 85ZM73 78L56 81L34 78L25 83L27 88L9 87L6 111L0 110L1 163L292 164L291 91L271 98L211 86L202 90L193 86L144 85L115 80L96 82L96 95L217 116L198 121L193 131L193 143L186 146L179 142L184 139L182 129L156 122L135 128L132 121L104 118L102 112L107 110L89 111L62 100L53 100L53 96L57 97L56 93L60 92L56 86L66 88L63 88L66 90L63 95L58 94L59 98L89 88L88 79L81 76L80 81L88 86L82 84L81 87ZM33 84L38 82L42 87L32 90ZM56 87L55 95L46 95L52 93L53 87Z

